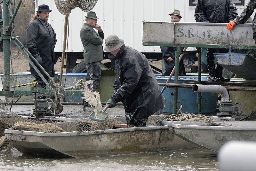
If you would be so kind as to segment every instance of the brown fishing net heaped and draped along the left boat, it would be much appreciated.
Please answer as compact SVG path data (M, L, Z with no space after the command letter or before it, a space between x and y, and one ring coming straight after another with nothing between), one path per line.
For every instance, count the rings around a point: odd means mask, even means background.
M93 109L92 109L93 110ZM164 115L152 115L148 117L147 125L160 125L157 120ZM96 131L113 129L114 124L126 124L125 117L108 117L104 122L97 122L89 118L35 118L21 116L10 111L0 103L0 153L19 153L7 140L4 129L12 128L20 131L36 132L72 132L72 131Z

